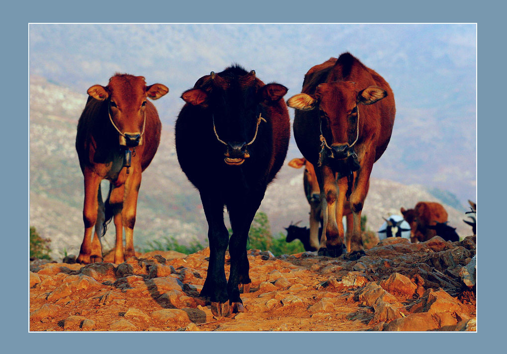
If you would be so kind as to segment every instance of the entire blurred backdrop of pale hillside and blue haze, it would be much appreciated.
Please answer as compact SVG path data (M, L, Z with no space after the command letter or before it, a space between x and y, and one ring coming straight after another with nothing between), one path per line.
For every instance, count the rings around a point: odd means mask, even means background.
M207 224L197 191L180 171L173 124L182 92L232 63L265 83L301 92L310 67L349 51L390 84L396 120L389 147L374 165L364 214L382 217L418 201L438 201L460 236L467 200L476 201L475 24L30 24L30 226L51 239L55 257L77 254L82 240L83 177L75 151L86 90L115 72L162 83L155 106L162 141L143 173L135 243L174 238L204 242ZM289 109L291 120L294 110ZM301 157L291 140L287 160ZM309 206L302 170L287 167L261 206L271 233L302 220ZM106 188L103 188L106 189ZM114 245L114 232L104 246Z

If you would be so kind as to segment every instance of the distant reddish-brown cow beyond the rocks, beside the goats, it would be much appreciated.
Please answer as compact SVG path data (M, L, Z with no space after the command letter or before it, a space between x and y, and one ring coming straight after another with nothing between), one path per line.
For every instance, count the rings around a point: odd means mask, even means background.
M419 202L414 209L401 208L403 218L410 225L410 241L412 243L424 242L434 237L437 232L428 228L437 222L447 221L447 211L440 203Z

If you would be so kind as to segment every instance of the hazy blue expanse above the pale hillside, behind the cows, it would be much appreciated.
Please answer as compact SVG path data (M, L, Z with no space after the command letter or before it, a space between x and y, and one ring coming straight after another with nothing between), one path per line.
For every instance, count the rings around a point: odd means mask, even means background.
M301 92L313 65L349 51L390 84L396 120L372 175L476 198L475 24L31 24L30 74L76 92L115 72L169 94L155 102L171 129L181 93L232 63ZM290 109L291 118L294 112ZM294 141L289 158L297 157Z

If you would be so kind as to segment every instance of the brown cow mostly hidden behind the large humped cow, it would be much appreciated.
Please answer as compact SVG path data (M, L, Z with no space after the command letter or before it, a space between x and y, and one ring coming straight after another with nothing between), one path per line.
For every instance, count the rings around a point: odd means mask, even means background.
M288 166L291 166L296 169L300 169L303 166L305 166L305 173L303 175L303 188L305 190L306 200L308 201L308 204L310 204L310 231L308 240L309 246L308 249L305 247L305 250L316 251L320 244L323 216L320 204L320 188L318 186L315 168L305 158L292 159L291 161L289 161ZM370 181L368 181L366 186L367 193L369 188ZM347 252L350 252L350 237L353 229L353 217L352 210L350 209L350 204L348 203L348 201L344 202L342 215L345 216L347 222L347 231L345 232L345 245L347 248ZM336 218L337 222L341 220L339 215L337 215ZM303 242L302 239L300 240L301 242ZM303 244L305 242L303 242Z

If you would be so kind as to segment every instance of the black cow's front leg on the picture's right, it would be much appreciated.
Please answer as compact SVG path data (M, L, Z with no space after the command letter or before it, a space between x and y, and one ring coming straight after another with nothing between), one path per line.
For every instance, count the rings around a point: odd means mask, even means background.
M243 293L245 293L245 289L249 289L251 283L248 274L250 266L246 256L246 241L250 225L264 198L264 193L260 192L260 194L260 199L258 197L255 199L247 198L241 205L228 208L233 234L229 240L231 269L227 283L227 292L232 313L244 311L243 301L241 301L239 296L238 285L243 284Z

